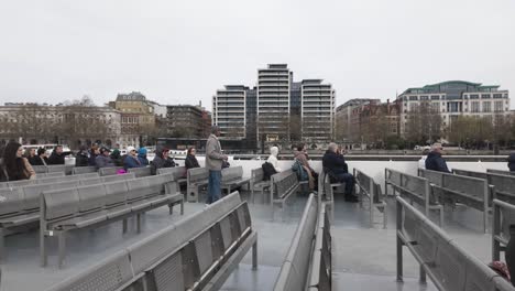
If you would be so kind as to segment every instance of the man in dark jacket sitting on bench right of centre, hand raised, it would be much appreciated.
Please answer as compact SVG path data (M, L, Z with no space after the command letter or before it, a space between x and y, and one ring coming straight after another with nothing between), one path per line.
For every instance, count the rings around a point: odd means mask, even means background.
M349 173L346 159L335 142L329 143L329 148L324 154L322 166L327 169L329 177L335 177L340 183L346 183L344 198L347 202L358 202L352 194L354 188L354 176Z

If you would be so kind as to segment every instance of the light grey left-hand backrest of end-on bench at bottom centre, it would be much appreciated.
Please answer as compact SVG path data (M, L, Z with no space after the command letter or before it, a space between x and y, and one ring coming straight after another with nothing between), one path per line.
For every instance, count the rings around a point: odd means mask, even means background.
M310 261L309 255L313 252L314 235L317 228L317 203L315 195L310 194L275 281L274 290L276 291L306 289Z

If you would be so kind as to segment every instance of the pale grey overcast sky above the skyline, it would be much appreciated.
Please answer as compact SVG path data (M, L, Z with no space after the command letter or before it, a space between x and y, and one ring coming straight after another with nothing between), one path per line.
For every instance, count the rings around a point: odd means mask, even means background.
M0 11L0 103L100 105L142 91L210 109L224 84L287 63L337 104L449 79L515 91L515 1L17 0ZM513 93L512 93L513 95ZM514 107L515 103L512 103Z

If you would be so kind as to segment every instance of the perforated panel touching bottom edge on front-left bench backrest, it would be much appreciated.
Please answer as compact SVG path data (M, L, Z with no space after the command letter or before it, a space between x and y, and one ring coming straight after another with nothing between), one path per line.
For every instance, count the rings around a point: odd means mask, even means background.
M183 277L183 256L177 252L155 267L156 291L185 290Z

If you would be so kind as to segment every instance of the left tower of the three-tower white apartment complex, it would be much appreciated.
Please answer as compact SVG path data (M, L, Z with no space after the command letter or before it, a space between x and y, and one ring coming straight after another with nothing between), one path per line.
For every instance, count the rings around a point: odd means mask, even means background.
M246 134L245 101L248 87L226 85L212 97L212 123L220 127L223 139L244 139Z

